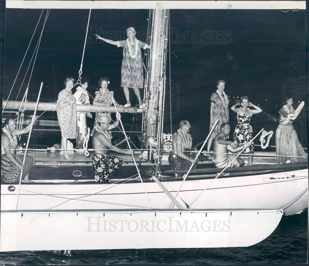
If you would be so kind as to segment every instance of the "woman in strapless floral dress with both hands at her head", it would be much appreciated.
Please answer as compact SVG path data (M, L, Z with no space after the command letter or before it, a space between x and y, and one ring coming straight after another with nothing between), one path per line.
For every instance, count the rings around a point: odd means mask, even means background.
M236 108L237 105L241 105L241 107ZM253 107L255 110L248 108L248 106ZM238 146L241 146L252 140L253 131L250 121L252 115L262 112L262 109L249 102L248 96L243 96L240 98L240 103L237 102L233 105L231 110L237 113L237 125L234 131L234 142L236 142ZM248 165L252 165L254 153L253 142L243 151L243 153L248 154Z

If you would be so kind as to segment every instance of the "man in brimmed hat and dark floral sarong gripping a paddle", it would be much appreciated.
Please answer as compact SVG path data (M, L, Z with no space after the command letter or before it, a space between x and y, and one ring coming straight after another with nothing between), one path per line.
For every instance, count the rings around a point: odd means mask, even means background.
M93 129L92 136L92 167L95 174L95 181L108 182L123 164L119 157L108 154L108 149L112 151L133 154L133 150L122 150L111 143L111 137L108 130L117 127L119 124L120 114L116 115L116 122L110 124L111 119L107 114L101 114L98 118L98 125Z

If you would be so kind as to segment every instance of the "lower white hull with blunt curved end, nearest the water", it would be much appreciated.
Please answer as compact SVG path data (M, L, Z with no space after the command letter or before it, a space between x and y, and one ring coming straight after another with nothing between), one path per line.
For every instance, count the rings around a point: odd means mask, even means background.
M281 210L2 211L0 251L248 247L281 217Z

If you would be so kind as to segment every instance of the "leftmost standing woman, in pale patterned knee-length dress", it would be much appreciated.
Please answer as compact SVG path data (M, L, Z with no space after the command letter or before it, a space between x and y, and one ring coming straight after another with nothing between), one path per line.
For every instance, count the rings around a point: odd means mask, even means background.
M61 130L61 151L67 160L71 160L67 151L68 139L76 139L77 132L77 112L76 100L72 94L74 79L66 78L64 84L66 88L58 94L57 117Z

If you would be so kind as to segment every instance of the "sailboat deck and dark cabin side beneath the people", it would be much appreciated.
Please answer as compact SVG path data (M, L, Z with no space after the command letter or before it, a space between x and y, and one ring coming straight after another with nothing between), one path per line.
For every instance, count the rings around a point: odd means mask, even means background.
M75 180L95 182L92 169L93 152L89 153L89 157L86 157L84 153L75 152L70 155L72 160L69 161L60 155L59 151L28 151L28 155L36 160L36 165L30 171L29 178L38 182L73 182ZM113 182L113 180L119 181L120 179L128 179L129 182L140 182L138 171L131 155L120 155L116 152L109 152L109 154L121 157L124 160L124 164L118 169L110 182ZM140 153L134 154L134 158L143 180L153 182L152 176L155 175L157 169L155 163L150 164L147 161L146 153L143 153L142 158L140 158ZM164 180L175 179L175 170L171 169L167 158L168 153L163 154L161 165L162 178ZM242 156L242 158L245 163L248 162L247 156ZM203 154L199 157L199 160L197 168L190 171L188 178L214 178L222 170L216 168L213 162ZM220 177L250 176L259 173L282 172L282 169L288 171L288 169L304 169L308 167L307 161L297 164L276 165L274 153L271 152L256 152L253 162L253 166L245 165L237 168L227 168ZM185 173L186 171L183 171L183 174Z

